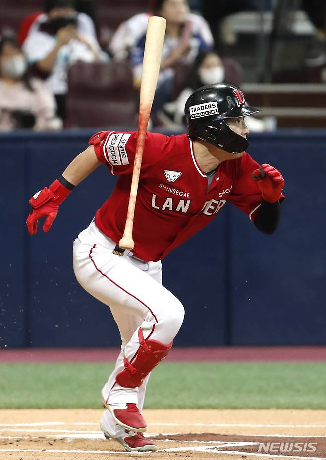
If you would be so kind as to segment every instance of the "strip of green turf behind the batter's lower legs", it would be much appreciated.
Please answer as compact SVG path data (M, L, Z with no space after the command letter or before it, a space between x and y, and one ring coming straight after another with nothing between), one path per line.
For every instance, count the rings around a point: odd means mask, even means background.
M0 408L100 408L112 364L0 364ZM326 409L326 364L162 363L147 408Z

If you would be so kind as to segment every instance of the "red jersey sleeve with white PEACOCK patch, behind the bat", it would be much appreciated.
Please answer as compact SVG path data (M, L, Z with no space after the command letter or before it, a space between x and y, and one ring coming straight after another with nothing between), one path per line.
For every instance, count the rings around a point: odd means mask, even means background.
M100 131L89 139L89 144L94 146L97 159L108 166L113 176L130 175L134 167L137 134L137 131ZM167 139L163 134L146 133L141 175L146 175L160 160Z

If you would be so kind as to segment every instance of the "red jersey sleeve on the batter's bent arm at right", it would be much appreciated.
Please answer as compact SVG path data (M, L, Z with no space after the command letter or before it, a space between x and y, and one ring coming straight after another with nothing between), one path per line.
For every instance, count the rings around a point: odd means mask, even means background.
M252 222L261 205L262 192L257 186L257 182L251 177L255 169L260 165L254 161L248 153L244 153L237 172L237 180L232 188L229 201L238 209L245 212Z

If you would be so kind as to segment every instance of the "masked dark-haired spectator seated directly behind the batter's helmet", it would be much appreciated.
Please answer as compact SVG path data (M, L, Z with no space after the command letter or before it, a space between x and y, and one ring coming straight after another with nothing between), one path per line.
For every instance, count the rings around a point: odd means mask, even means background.
M184 125L184 106L188 97L201 86L229 83L241 86L239 77L242 74L241 66L233 59L221 59L214 51L201 51L195 59L192 72L189 78L189 86L185 88L178 98L171 103L166 103L163 110L157 116L163 125L169 129L183 129ZM237 75L234 75L237 73ZM239 83L238 83L239 82ZM275 120L267 118L248 117L246 119L248 128L251 131L270 131L274 129Z

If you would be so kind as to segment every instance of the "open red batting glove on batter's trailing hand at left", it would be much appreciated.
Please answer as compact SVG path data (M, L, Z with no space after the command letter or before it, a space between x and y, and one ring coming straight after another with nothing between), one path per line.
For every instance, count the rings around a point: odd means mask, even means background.
M43 190L37 192L29 200L29 204L33 207L32 212L26 220L27 230L30 235L35 235L39 225L38 220L46 217L43 224L43 231L48 232L58 213L59 205L66 199L71 190L68 190L57 179Z

